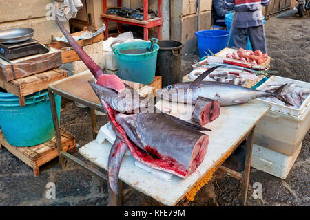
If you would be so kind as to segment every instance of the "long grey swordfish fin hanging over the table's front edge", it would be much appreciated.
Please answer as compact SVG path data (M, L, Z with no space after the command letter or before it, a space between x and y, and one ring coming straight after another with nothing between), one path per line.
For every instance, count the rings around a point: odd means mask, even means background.
M118 195L118 173L127 148L127 144L122 142L119 137L116 137L116 140L114 141L109 154L109 160L107 162L110 188L116 194L116 196Z

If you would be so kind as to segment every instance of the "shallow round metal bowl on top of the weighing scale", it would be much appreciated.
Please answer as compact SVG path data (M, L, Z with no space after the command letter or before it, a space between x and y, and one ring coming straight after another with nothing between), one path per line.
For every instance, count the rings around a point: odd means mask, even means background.
M0 30L0 43L19 43L33 36L32 28L8 28Z

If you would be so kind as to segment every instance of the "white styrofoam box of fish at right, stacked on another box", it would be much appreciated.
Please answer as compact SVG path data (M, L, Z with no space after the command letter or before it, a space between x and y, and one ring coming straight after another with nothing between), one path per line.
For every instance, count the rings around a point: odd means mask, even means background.
M271 76L269 80L257 89L264 89L271 83L296 83L297 86L306 89L310 88L310 83ZM270 104L271 111L256 125L254 143L292 156L310 129L309 97L304 101L300 109L293 109L267 100L258 99L261 102Z

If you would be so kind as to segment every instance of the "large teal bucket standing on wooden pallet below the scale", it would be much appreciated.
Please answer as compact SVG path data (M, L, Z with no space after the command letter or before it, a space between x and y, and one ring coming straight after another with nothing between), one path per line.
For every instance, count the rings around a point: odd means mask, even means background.
M61 97L55 94L58 118ZM19 98L0 92L0 126L6 141L12 146L34 146L54 137L54 125L48 91L25 96L25 106Z

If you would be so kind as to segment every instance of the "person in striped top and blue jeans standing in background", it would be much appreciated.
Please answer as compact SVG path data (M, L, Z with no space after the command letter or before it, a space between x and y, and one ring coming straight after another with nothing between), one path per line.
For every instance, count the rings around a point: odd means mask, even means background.
M235 10L231 23L232 39L235 47L247 47L247 36L253 50L267 53L265 29L262 25L262 6L268 6L271 0L224 0L226 10Z

